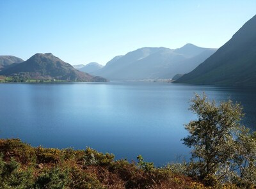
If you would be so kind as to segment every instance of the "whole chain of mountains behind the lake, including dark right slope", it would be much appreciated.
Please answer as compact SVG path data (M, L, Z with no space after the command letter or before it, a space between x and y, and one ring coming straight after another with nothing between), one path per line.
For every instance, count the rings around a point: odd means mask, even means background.
M27 61L0 56L0 75L6 76L72 81L176 79L175 83L256 86L256 15L218 50L189 43L174 50L144 47L116 56L106 66L74 67L77 70L51 53L35 54Z

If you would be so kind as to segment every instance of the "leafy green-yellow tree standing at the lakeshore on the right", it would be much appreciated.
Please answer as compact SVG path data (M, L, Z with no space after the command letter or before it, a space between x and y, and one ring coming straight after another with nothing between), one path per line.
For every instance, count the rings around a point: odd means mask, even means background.
M189 135L182 139L193 147L191 174L212 184L237 177L243 180L250 169L247 178L255 179L256 135L240 124L244 116L241 105L231 100L216 105L205 94L195 94L191 102L189 109L198 119L185 125Z

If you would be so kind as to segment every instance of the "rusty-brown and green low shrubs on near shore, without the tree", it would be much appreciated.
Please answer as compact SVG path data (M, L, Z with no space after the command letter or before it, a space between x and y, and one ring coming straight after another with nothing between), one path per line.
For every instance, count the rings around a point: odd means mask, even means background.
M0 140L0 188L204 188L177 167L114 160L86 150L31 147L19 139Z

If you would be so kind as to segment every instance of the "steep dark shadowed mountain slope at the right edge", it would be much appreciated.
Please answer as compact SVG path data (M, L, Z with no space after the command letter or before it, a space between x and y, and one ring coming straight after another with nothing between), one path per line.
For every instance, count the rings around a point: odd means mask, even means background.
M204 63L176 83L256 86L256 15Z

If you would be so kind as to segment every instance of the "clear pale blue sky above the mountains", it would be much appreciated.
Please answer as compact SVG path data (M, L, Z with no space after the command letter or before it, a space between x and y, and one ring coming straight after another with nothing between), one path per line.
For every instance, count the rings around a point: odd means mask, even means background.
M0 55L104 65L141 47L219 48L255 14L255 0L0 0Z

